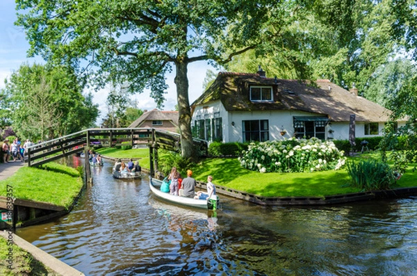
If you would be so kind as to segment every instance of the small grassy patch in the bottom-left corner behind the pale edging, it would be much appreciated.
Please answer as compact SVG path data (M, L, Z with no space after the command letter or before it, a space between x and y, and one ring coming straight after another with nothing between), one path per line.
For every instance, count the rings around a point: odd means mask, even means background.
M10 270L6 260L9 252L9 246L5 238L0 237L0 275L4 276L18 276L18 275L49 275L55 276L58 274L54 273L53 270L44 266L43 263L33 258L33 256L22 250L17 245L12 245L13 252L13 266Z

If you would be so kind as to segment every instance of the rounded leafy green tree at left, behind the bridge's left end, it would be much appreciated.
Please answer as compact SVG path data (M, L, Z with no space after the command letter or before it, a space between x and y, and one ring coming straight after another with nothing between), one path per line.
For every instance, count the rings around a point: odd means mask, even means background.
M90 127L99 111L82 89L68 68L21 65L2 91L8 120L19 135L41 140Z

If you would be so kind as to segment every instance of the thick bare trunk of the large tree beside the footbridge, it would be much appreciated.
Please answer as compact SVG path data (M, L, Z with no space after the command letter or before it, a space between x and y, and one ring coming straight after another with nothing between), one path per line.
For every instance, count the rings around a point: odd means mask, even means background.
M181 155L193 160L197 159L191 133L191 111L188 100L188 63L180 61L175 63L175 84L177 86L177 102L179 111L179 133L181 135Z

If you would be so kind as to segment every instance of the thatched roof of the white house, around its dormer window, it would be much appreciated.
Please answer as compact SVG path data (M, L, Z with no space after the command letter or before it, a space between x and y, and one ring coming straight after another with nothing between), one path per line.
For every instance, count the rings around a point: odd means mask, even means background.
M272 102L251 102L250 86L272 86ZM298 110L325 115L335 122L385 122L391 111L357 96L329 80L318 80L316 87L292 79L270 79L259 74L220 72L214 83L192 104L220 100L227 111Z

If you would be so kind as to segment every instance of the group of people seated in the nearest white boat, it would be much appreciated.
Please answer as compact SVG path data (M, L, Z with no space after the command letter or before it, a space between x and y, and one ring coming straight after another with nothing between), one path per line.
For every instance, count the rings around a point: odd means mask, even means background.
M170 194L179 195L181 197L192 197L196 200L209 200L215 199L215 186L211 182L213 177L209 175L207 177L207 192L199 191L195 193L195 186L197 181L193 178L193 171L187 170L187 177L181 180L180 174L176 167L172 167L170 175L167 177L170 180Z

